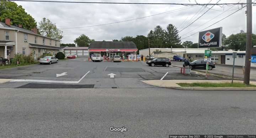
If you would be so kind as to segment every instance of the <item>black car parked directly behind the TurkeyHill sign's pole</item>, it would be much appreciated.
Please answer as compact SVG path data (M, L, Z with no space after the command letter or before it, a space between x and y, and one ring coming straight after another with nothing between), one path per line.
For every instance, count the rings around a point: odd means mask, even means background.
M184 67L184 63L183 63L183 67ZM190 62L190 69L206 69L206 61L204 61L203 59L198 59L198 60L194 60L192 62ZM212 70L213 68L215 68L215 63L214 62L209 62L209 70Z

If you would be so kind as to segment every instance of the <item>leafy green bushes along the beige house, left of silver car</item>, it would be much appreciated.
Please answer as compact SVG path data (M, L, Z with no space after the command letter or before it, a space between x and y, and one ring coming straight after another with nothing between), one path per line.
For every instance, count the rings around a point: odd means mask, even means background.
M23 54L16 54L14 58L11 59L12 65L17 65L17 61L20 65L28 65L28 64L34 64L37 63L34 60L33 54L29 54L28 56Z

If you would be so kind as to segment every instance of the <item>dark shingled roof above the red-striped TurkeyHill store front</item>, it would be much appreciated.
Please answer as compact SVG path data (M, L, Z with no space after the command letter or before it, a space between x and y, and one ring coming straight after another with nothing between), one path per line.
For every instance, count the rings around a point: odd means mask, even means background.
M89 49L137 49L134 42L94 41Z

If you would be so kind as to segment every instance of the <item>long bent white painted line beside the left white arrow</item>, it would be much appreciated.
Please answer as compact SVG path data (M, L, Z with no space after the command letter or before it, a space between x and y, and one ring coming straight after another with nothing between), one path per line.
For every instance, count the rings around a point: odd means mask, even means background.
M48 83L62 83L62 84L78 84L84 77L89 73L88 71L79 81L57 81L57 80L26 80L26 79L18 79L12 80L10 82L48 82Z

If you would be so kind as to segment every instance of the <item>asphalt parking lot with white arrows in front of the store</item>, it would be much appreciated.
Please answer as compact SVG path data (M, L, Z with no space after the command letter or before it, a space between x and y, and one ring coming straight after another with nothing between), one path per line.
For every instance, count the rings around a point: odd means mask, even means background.
M112 73L114 78L109 75ZM60 76L57 77L57 74ZM151 88L155 86L144 84L140 80L195 80L205 79L205 75L182 75L180 68L149 67L140 61L91 62L88 58L76 58L51 65L34 64L1 69L0 78L14 79L14 82L0 84L0 87L6 88ZM208 79L223 78L209 76ZM65 84L69 86L60 87Z

